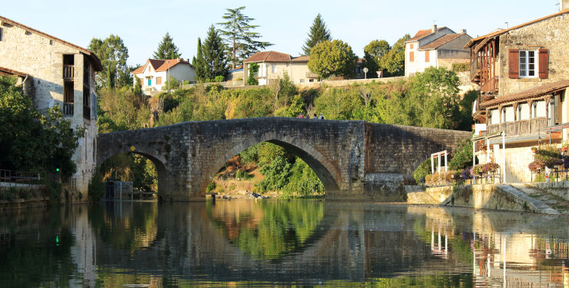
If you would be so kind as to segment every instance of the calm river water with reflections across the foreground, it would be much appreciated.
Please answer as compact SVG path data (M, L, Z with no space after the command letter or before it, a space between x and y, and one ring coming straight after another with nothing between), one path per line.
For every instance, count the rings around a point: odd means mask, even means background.
M11 211L0 287L569 287L567 220L314 200Z

